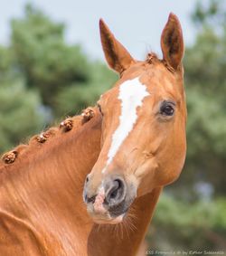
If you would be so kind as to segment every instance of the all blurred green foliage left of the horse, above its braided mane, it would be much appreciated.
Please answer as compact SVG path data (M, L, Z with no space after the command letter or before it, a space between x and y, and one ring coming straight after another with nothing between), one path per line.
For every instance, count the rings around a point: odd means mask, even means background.
M64 24L33 5L11 22L11 43L0 46L0 153L94 104L117 80L80 45L64 41Z

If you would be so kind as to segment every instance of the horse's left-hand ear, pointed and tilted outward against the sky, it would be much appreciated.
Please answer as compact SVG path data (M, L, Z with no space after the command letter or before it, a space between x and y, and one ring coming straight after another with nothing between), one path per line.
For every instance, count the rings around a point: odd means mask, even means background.
M119 43L113 33L110 32L107 24L105 24L102 19L99 20L99 32L109 67L118 73L127 70L135 61L127 52L127 49Z

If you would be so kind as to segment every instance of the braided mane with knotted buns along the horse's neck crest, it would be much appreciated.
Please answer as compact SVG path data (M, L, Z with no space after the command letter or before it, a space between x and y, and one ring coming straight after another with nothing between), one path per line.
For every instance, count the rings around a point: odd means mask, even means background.
M31 137L28 144L19 145L6 152L0 159L0 174L5 170L12 170L15 166L21 166L31 161L34 156L40 155L43 148L51 147L51 142L59 141L64 133L73 130L74 135L79 128L95 116L97 110L97 108L91 107L84 109L81 115L67 118L61 122L60 126L49 128L41 134Z

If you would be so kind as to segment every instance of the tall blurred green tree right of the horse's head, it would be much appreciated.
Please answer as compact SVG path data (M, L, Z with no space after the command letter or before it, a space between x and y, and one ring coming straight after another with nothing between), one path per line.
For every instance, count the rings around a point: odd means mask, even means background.
M198 2L192 14L196 39L184 55L188 148L184 171L174 185L179 196L191 201L205 195L199 193L199 183L211 185L212 196L226 193L225 4Z

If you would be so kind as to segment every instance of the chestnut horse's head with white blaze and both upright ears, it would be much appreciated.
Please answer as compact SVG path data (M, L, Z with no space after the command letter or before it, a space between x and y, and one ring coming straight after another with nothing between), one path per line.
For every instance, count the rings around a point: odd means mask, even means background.
M100 20L99 26L108 65L120 78L98 101L101 149L86 178L83 197L95 223L116 224L123 222L136 198L150 193L157 198L184 166L184 41L178 18L170 14L161 35L163 60L151 52L140 62L107 24ZM145 229L137 233L140 241L144 235Z

